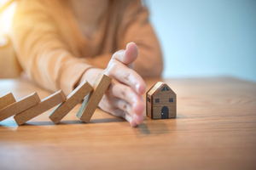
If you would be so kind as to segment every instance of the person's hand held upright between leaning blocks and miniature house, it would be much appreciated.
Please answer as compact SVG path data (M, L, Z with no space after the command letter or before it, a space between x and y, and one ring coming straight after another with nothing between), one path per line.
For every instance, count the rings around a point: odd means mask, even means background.
M90 82L99 72L112 77L113 80L99 107L113 116L123 117L132 127L143 122L145 108L142 94L146 90L146 85L143 78L133 70L133 62L137 55L137 45L130 42L125 50L113 54L105 70L92 68L84 73L84 78L81 78L81 81L86 79Z

